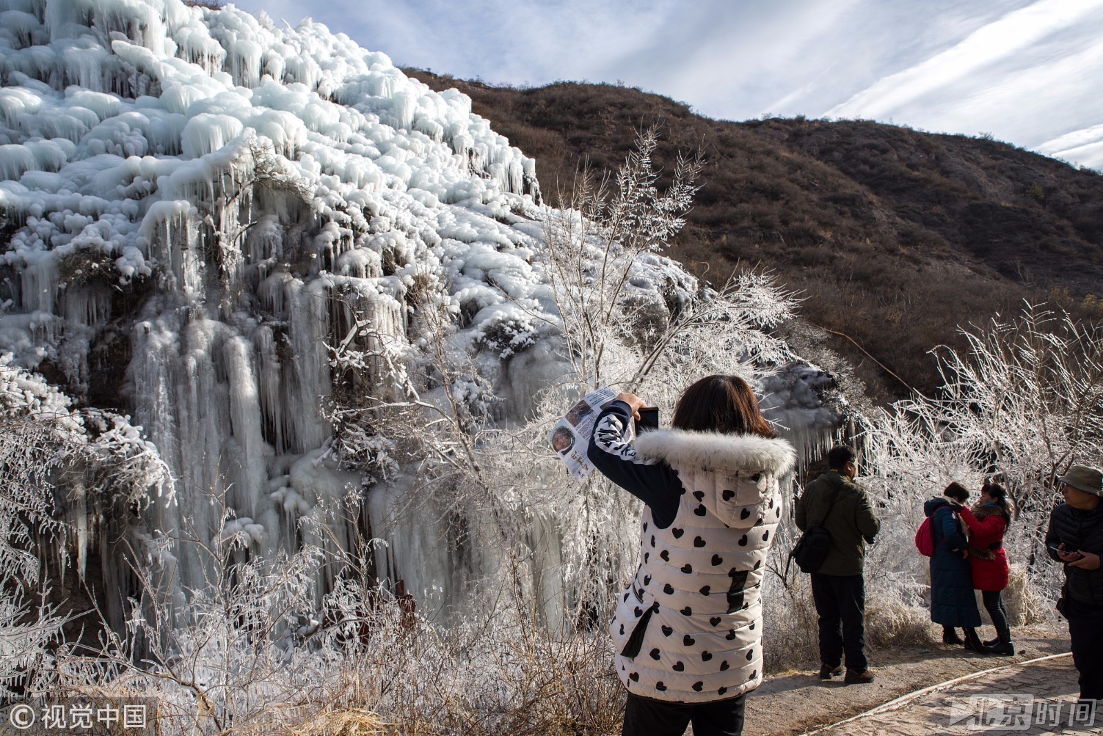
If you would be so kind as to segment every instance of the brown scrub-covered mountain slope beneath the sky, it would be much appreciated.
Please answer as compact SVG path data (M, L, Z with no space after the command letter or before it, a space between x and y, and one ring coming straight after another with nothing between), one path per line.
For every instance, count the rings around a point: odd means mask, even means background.
M802 292L804 316L846 336L831 347L881 399L906 393L903 383L935 389L929 351L960 346L956 325L1014 312L1025 297L1100 316L1091 300L1081 305L1103 291L1095 172L875 122L727 122L619 86L516 89L408 73L470 95L475 112L537 160L555 204L579 162L614 169L641 127L663 126L656 159L668 170L677 151L700 148L703 186L670 255L713 281L739 263L772 269Z

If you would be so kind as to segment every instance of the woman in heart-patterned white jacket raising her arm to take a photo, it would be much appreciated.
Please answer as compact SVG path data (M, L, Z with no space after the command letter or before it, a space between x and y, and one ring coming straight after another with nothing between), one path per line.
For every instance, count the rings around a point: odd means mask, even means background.
M625 442L644 402L621 393L598 416L589 458L640 498L640 569L610 624L628 689L625 736L742 732L762 681L761 587L781 519L777 439L750 386L709 376L687 388L671 430Z

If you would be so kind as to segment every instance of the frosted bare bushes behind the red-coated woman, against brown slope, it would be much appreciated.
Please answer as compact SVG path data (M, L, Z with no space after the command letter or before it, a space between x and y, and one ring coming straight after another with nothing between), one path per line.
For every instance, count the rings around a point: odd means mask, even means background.
M1053 577L1038 551L1056 478L1072 463L1103 459L1099 328L1027 304L1017 320L997 316L962 334L964 351L938 353L938 396L866 418L868 467L886 497L912 499L915 508L950 480L973 487L996 476L1020 513L1009 544L1046 591Z

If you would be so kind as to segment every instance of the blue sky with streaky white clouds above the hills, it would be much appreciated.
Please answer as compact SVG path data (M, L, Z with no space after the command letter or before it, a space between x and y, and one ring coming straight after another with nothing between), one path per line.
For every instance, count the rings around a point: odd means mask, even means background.
M244 0L396 64L623 83L714 118L868 118L1103 167L1103 0Z

